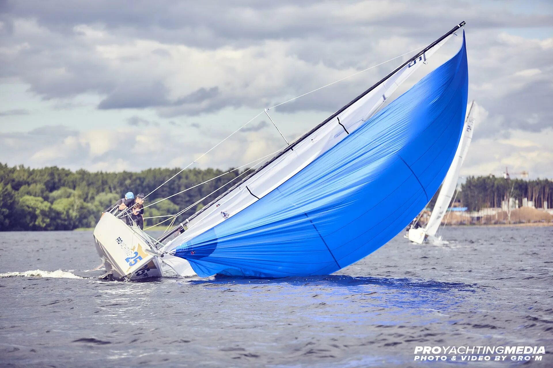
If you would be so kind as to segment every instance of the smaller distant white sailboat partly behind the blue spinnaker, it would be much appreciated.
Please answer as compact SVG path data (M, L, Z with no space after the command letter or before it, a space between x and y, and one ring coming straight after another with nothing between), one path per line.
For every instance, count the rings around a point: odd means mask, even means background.
M413 227L409 229L407 237L411 242L422 244L426 241L436 245L447 244L441 236L436 236L436 232L440 228L440 224L446 214L447 208L453 200L453 194L457 188L459 171L461 170L463 161L465 161L465 157L467 156L468 147L471 145L475 123L474 105L475 103L473 100L467 111L465 125L463 126L463 133L461 135L459 145L457 146L457 151L455 152L455 158L453 158L453 162L451 163L449 170L447 170L444 183L442 183L442 188L440 189L440 193L436 199L436 204L434 205L434 209L430 214L430 218L426 223L426 226L416 228Z

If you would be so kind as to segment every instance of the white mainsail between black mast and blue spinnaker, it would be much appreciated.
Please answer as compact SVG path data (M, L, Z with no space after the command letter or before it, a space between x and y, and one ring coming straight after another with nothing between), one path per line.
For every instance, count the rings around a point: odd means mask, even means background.
M458 28L461 28L462 25L464 23L458 25ZM180 244L210 230L226 218L236 215L337 145L348 134L371 118L399 85L425 64L427 58L444 45L452 35L453 33L427 47L416 58L405 63L383 82L377 84L370 92L362 95L358 100L354 100L342 111L339 110L337 114L331 116L316 129L298 138L292 143L293 149L280 153L276 159L269 161L246 180L228 190L201 211L196 212L195 215L183 222L187 230L167 243L161 250L170 252Z

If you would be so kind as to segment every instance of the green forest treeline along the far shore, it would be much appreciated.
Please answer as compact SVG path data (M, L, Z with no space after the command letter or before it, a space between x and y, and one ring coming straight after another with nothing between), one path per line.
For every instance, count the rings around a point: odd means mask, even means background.
M124 196L150 193L165 180L180 171L174 169L147 169L141 172L88 172L58 167L32 169L24 166L9 167L0 164L0 231L7 230L74 230L94 227L102 211ZM190 188L208 179L224 174L219 169L186 169L173 180L148 197L146 205ZM225 191L225 185L244 170L234 170L206 184L196 186L171 199L147 207L145 217L174 215L200 199L179 217L179 221L194 214L202 206ZM223 188L220 188L223 186ZM217 190L218 189L218 190ZM215 193L211 194L213 191ZM541 207L544 201L553 207L553 180L508 180L490 177L469 177L457 194L457 202L469 211L485 207L500 207L505 196L528 198ZM436 199L432 199L430 207ZM152 226L165 218L152 218L145 226ZM170 221L169 221L170 222ZM165 224L169 223L165 222Z

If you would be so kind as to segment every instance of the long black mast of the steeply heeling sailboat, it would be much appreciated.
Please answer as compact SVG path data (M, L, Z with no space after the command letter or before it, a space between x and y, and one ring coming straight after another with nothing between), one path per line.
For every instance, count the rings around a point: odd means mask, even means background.
M285 147L282 151L280 151L278 154L276 154L276 156L274 156L272 159L270 159L269 161L265 162L263 164L263 166L261 166L260 168L258 168L257 170L255 170L253 173L249 174L246 178L240 180L238 183L234 184L231 188L227 189L225 191L225 193L217 196L216 199L212 200L209 204L207 204L206 206L204 206L200 211L197 211L194 215L190 216L189 218L186 219L186 221L184 222L181 222L179 223L179 225L177 225L175 228L173 228L173 230L171 230L170 232L168 232L167 234L165 234L164 236L160 237L158 239L159 242L163 242L165 239L167 239L171 234L174 234L175 232L181 230L181 229L184 229L184 225L186 222L189 222L190 220L192 220L192 218L200 215L202 212L204 212L204 210L206 210L208 207L210 207L212 204L214 204L216 201L220 200L221 198L223 198L225 195L227 195L230 191L236 189L239 185L241 185L242 183L246 182L246 180L248 180L249 178L251 178L253 175L255 175L255 173L259 172L260 170L263 170L265 167L267 167L269 164L271 164L272 162L274 162L277 158L279 158L280 156L282 156L284 153L288 152L289 150L291 150L292 148L294 148L296 145L298 145L299 142L303 141L307 136L311 135L312 133L314 133L316 130L318 130L320 127L324 126L327 122L331 121L332 119L336 118L336 116L338 116L339 114L341 114L344 110L346 110L349 106L353 105L354 103L356 103L358 100L360 100L361 98L363 98L367 93L370 93L374 88L377 88L378 86L380 86L380 84L384 83L385 81L387 81L388 78L392 77L395 73L397 73L401 68L403 68L405 65L408 65L411 61L415 60L416 58L420 57L422 54L424 54L426 51L430 50L432 47L436 46L437 44L439 44L442 40L444 40L447 36L451 35L452 33L455 33L458 29L460 29L462 26L465 25L465 21L463 20L463 22L457 24L455 27L453 27L451 30L449 30L446 34L444 34L443 36L441 36L439 39L437 39L436 41L432 42L430 45L426 46L424 50L422 51L419 51L415 56L411 57L408 61L404 62L403 64L401 64L399 67L397 67L393 72L389 73L387 76L385 76L384 78L380 79L380 81L378 81L377 83L374 84L374 86L372 86L371 88L367 89L365 92L363 92L362 94L358 95L356 98L354 98L353 100L351 100L351 102L349 102L347 105L343 106L340 110L336 111L336 113L332 114L331 116L329 116L325 121L321 122L321 124L315 126L313 129L311 129L310 131L308 131L306 134L302 135L300 138L296 139L294 142L292 142L289 146Z

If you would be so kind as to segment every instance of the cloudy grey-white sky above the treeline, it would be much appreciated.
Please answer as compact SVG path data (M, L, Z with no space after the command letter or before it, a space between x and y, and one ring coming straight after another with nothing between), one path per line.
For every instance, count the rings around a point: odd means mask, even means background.
M242 166L285 144L265 108L378 65L271 109L294 140L462 20L478 110L461 174L553 178L549 1L0 0L0 163Z

